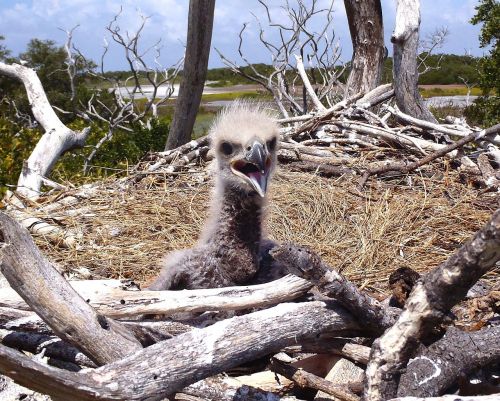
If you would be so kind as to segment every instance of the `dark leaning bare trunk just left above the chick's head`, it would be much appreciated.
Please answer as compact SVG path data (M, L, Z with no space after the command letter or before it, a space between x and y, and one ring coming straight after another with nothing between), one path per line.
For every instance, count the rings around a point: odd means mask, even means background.
M175 104L165 150L175 149L191 140L194 120L200 106L207 76L212 40L215 0L190 0L186 58L179 97Z

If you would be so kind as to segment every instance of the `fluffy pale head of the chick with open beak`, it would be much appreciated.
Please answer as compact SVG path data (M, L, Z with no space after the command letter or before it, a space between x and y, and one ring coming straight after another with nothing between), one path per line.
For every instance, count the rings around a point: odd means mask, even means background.
M256 105L236 103L219 115L210 138L222 183L264 198L276 166L273 116Z

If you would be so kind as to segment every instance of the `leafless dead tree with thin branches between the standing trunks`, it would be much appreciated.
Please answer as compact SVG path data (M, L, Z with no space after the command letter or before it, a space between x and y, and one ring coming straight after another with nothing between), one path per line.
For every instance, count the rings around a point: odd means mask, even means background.
M333 106L339 100L339 92L344 90L339 81L344 68L336 65L340 46L331 32L333 2L327 9L318 8L317 0L308 4L298 0L295 6L286 2L282 7L284 21L273 14L266 1L259 0L259 3L264 8L266 20L255 17L258 34L261 44L271 55L272 70L269 73L259 71L245 54L244 34L249 23L245 23L239 33L238 46L240 58L247 68L215 49L222 62L236 74L269 92L284 118ZM321 25L316 32L311 25L318 19ZM275 31L279 39L271 41L269 31ZM336 90L337 87L341 90Z

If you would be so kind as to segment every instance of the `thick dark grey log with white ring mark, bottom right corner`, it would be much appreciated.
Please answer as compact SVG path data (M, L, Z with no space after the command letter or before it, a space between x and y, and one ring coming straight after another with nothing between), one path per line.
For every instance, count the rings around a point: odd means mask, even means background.
M500 326L475 332L450 327L445 336L413 357L401 375L398 397L442 395L461 376L500 360Z

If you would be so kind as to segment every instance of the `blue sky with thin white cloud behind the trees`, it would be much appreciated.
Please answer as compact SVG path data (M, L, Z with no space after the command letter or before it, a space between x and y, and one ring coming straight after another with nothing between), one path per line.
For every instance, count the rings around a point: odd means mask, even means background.
M312 0L304 0L310 4ZM317 0L320 8L328 7L331 0ZM365 1L365 0L363 0ZM275 21L285 22L286 17L280 6L283 0L268 0L271 15ZM106 70L126 69L123 50L113 46L106 25L122 8L118 19L121 32L133 32L140 24L140 15L148 16L140 47L148 49L161 39L159 62L168 67L183 54L188 15L188 0L0 0L0 35L5 36L4 44L17 55L24 51L32 38L51 39L58 44L66 41L65 30L76 25L73 42L86 57L99 61L107 40L111 43L105 58ZM293 4L294 0L290 0ZM447 40L439 52L454 54L485 53L479 47L479 26L469 23L474 15L477 0L421 0L421 38L436 29L446 27ZM382 0L384 34L389 53L392 52L390 35L394 27L396 1ZM223 63L217 52L219 49L236 64L243 64L238 55L238 33L243 23L249 23L244 36L244 52L250 62L270 63L270 55L258 38L256 17L265 21L264 8L257 0L217 0L215 6L212 51L209 67L221 67ZM322 18L316 18L312 27L320 29ZM340 44L341 60L347 61L352 55L349 28L342 0L334 0L332 31ZM277 33L265 28L265 34L273 41ZM147 56L153 63L153 56Z

